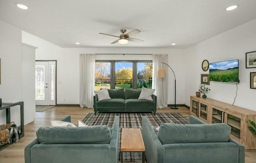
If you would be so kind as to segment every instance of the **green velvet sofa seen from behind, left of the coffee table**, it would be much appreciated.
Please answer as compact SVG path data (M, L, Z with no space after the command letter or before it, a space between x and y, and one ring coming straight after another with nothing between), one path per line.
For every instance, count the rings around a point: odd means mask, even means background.
M62 121L70 122L70 116ZM117 163L119 116L107 126L43 127L25 147L25 163Z

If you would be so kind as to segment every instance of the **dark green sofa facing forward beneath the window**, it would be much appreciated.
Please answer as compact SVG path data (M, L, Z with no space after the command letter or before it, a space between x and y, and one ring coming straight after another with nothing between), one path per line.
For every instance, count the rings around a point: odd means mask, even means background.
M94 96L94 113L97 112L154 112L156 114L156 96L151 100L139 100L141 90L108 89L111 99L98 100Z

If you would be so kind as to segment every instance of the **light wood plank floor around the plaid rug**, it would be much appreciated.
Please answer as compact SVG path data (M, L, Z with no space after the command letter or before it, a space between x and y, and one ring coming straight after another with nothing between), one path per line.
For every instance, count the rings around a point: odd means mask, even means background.
M64 116L70 115L72 123L77 126L77 120L82 120L90 112L93 112L93 109L68 106L55 106L45 112L36 112L34 122L25 125L25 136L18 143L0 151L0 163L24 163L24 148L36 138L35 133L38 128L51 126L51 120L60 120ZM177 110L163 108L158 109L157 112L180 112L186 117L189 116L189 110L185 107L179 107ZM245 162L256 163L256 151L246 151Z

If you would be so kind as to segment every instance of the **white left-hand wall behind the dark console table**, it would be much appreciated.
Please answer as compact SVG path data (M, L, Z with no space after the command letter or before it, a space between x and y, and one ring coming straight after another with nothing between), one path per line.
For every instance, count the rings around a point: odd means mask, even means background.
M2 101L24 101L24 124L34 120L34 59L35 55L22 47L21 30L0 21L0 58ZM10 109L11 121L20 125L20 106ZM0 111L0 124L6 123L5 110Z

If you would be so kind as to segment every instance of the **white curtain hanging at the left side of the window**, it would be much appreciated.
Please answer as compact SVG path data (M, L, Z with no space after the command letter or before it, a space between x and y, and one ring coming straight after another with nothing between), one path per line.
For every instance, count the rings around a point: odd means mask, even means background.
M80 54L80 107L93 107L95 54Z

